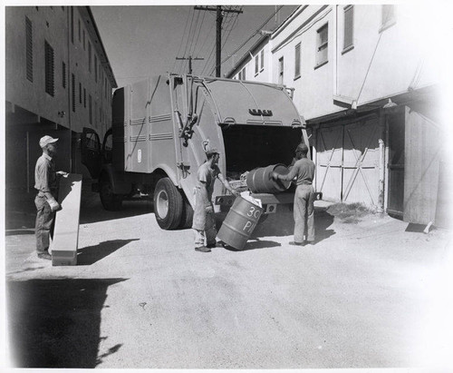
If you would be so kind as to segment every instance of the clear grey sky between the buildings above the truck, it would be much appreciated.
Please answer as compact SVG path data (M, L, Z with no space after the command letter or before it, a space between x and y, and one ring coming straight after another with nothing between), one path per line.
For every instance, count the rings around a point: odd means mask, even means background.
M257 31L274 30L296 8L295 5L225 7L243 13L224 15L222 75L259 40L261 34L256 34ZM276 14L275 10L278 10ZM177 57L203 58L192 60L193 74L215 75L216 12L195 10L194 5L115 5L92 6L92 14L119 87L147 76L188 73L188 60L177 60Z

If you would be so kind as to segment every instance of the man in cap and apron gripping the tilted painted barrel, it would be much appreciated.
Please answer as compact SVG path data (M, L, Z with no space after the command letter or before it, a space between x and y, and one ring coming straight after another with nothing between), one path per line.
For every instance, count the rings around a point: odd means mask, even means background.
M216 148L207 145L205 150L207 162L198 168L197 187L195 194L195 211L192 229L195 231L195 250L210 252L216 246L216 222L214 221L214 206L212 205L212 192L216 178L222 182L228 191L238 195L229 182L218 169L219 152ZM206 234L206 245L205 245Z

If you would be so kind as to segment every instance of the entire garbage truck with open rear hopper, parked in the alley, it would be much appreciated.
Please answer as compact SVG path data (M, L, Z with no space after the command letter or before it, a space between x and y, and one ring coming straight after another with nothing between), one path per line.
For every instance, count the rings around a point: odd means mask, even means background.
M160 228L189 227L199 165L206 147L220 152L218 166L233 188L246 189L246 172L290 164L300 142L308 145L304 118L284 85L167 74L117 89L112 125L103 142L82 133L82 163L92 174L104 209L123 200L151 198ZM255 193L265 213L293 203L294 189ZM216 211L235 197L215 183Z

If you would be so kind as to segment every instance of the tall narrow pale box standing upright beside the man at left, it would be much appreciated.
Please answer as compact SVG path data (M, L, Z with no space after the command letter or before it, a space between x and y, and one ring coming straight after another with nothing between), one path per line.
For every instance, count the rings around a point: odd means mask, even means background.
M70 173L60 179L58 202L62 210L55 214L53 240L50 245L53 266L75 266L79 241L82 175Z

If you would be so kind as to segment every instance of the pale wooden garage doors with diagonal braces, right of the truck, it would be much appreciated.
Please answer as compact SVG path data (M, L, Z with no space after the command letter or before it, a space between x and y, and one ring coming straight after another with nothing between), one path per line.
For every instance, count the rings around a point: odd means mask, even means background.
M379 134L377 117L319 130L316 190L324 200L378 204Z

